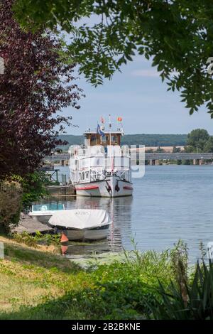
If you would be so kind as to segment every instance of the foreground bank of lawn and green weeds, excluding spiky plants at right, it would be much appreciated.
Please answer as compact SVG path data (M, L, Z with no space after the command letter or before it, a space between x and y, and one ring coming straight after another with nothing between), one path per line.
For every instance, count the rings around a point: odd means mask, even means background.
M51 249L0 241L0 319L143 318L158 278L169 284L173 276L168 252L84 271Z

